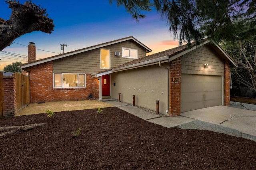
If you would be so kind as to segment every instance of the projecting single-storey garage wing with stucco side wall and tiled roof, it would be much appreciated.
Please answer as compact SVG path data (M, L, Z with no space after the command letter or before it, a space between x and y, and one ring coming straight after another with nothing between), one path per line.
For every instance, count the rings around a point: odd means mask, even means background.
M237 65L216 43L182 45L124 63L110 75L111 96L170 117L181 112L230 105L230 66ZM120 94L119 94L120 93Z

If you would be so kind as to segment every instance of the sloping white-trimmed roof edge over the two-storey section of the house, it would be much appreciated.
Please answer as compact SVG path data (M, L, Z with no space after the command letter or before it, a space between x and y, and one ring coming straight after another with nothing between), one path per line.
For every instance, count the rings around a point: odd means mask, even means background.
M92 47L89 47L89 48L86 48L86 49L81 49L81 50L77 50L77 51L70 52L70 53L67 53L67 54L58 55L56 57L50 57L48 59L38 60L37 62L34 62L34 63L28 63L26 65L22 65L20 68L24 69L24 68L31 67L31 66L34 66L34 65L46 63L46 62L53 61L53 60L56 60L56 59L68 57L70 55L75 55L75 54L78 54L78 53L83 53L83 52L86 52L86 51L90 51L90 50L93 50L93 49L105 47L107 45L112 45L112 44L115 44L115 43L124 42L124 41L127 41L127 40L134 40L136 43L140 44L142 47L144 47L148 51L152 52L152 49L148 48L146 45L144 45L143 43L139 42L138 40L136 40L134 37L131 36L131 37L128 37L128 38L117 40L117 41L112 41L112 42L109 42L109 43L102 43L100 45L92 46Z

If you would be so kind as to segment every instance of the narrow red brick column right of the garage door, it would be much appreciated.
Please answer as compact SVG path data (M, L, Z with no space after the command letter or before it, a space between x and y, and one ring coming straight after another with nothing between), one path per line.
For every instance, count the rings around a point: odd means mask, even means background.
M224 106L230 105L230 65L224 61Z

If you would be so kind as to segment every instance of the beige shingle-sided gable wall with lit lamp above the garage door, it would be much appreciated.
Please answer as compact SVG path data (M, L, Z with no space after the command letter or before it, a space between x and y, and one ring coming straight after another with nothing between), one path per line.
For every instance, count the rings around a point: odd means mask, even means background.
M204 64L208 63L208 68ZM199 47L181 57L181 73L199 75L224 75L223 59L208 45Z

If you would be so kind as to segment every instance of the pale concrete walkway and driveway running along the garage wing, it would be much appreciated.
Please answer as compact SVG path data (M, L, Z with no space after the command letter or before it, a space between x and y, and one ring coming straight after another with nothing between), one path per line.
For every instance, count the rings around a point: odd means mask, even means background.
M256 141L256 105L236 102L230 103L230 107L208 107L184 112L178 117L160 117L118 101L105 103L164 127L210 130Z

